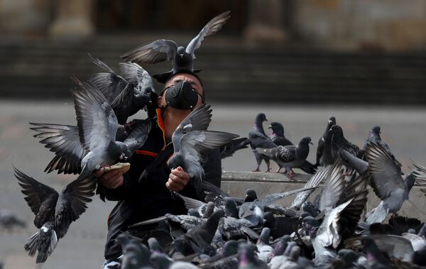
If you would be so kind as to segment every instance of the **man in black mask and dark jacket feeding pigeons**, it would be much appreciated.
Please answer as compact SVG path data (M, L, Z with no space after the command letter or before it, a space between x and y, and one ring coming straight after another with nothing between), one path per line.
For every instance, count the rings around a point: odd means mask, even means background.
M114 268L114 265L118 264L116 259L121 256L121 247L115 242L115 238L126 231L127 226L166 213L187 214L182 202L176 201L170 192L179 192L195 198L195 189L188 184L190 177L187 173L180 167L170 170L166 163L173 155L173 132L191 111L173 107L173 101L166 100L168 90L177 84L185 84L185 87L190 84L197 92L197 102L192 109L204 103L204 89L197 75L191 72L173 75L165 83L165 88L158 97L157 119L153 122L146 143L132 156L129 172L124 175L117 170L95 173L107 199L119 201L108 219L104 253L107 261L104 268ZM182 103L182 100L178 102ZM203 180L220 187L222 171L219 150L212 150L209 162L203 167Z

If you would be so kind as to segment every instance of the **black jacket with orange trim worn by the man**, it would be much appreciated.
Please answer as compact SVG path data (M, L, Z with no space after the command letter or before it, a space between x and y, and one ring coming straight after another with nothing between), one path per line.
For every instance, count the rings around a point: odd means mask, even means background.
M108 235L105 246L107 260L118 258L121 248L116 236L127 226L140 221L170 214L187 214L185 205L175 199L165 187L170 175L167 160L173 155L173 144L164 136L163 122L158 111L158 121L153 122L146 143L131 158L129 172L124 174L124 185L114 190L103 188L107 199L119 201L108 218ZM220 187L222 176L219 150L213 150L203 165L203 180ZM180 194L195 198L195 189L189 182Z

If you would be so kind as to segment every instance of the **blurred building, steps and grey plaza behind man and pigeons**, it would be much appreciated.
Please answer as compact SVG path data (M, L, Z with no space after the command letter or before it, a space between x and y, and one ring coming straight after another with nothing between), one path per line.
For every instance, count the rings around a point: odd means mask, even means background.
M35 233L33 213L11 168L55 190L75 178L43 172L53 153L32 137L28 122L76 124L69 77L88 79L102 72L87 53L118 71L123 53L159 38L186 45L226 10L231 11L228 23L204 40L195 60L213 104L212 129L247 136L263 112L264 127L280 121L293 143L311 136L315 144L308 160L314 163L316 142L334 115L346 138L361 147L368 129L380 125L404 172L413 161L426 165L424 0L0 0L4 268L100 268L103 263L106 219L115 203L94 197L53 256L35 265L23 251ZM143 67L155 75L171 64ZM222 165L224 170L256 168L250 149ZM1 210L22 219L26 228L1 226Z

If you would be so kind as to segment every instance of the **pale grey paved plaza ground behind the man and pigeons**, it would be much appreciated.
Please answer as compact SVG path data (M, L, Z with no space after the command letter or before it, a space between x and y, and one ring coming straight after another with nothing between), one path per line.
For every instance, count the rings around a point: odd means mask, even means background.
M316 142L322 135L329 115L334 115L344 128L346 138L362 146L373 125L382 127L382 136L403 163L405 171L410 158L426 165L426 109L379 107L317 107L317 106L220 106L213 104L214 119L212 130L230 131L245 136L258 112L264 112L271 121L280 121L285 133L293 143L301 136L311 136L315 142L310 160L315 160ZM97 197L77 222L70 226L65 238L60 240L53 256L43 265L36 267L35 259L26 256L23 244L28 236L35 233L33 214L23 200L18 184L13 177L11 165L48 183L60 190L72 176L43 173L45 165L53 154L45 150L32 137L28 122L75 124L71 101L40 103L31 101L0 100L0 209L10 209L28 228L9 232L0 229L0 260L5 268L99 268L103 262L103 246L106 235L107 214L114 207L113 202L103 203ZM265 126L267 127L267 126ZM241 150L224 160L224 170L253 170L256 168L251 150ZM262 170L265 170L262 166Z

